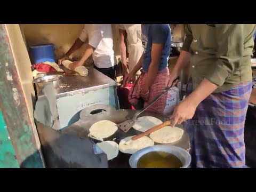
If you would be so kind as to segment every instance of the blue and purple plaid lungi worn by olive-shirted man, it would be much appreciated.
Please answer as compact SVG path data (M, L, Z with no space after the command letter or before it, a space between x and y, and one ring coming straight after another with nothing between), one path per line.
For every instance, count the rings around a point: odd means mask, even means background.
M184 123L191 167L246 167L244 123L251 91L252 83L242 82L229 91L213 93Z

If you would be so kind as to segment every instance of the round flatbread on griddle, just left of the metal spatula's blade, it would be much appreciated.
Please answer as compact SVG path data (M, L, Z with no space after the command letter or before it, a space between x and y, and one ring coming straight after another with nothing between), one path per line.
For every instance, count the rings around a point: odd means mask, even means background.
M118 127L115 123L108 120L103 120L94 123L90 127L89 131L93 137L104 139L113 135L117 131L117 129Z

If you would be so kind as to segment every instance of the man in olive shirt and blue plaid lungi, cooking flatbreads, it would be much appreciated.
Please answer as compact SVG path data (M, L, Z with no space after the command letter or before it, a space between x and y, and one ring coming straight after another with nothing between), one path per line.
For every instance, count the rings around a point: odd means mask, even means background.
M190 61L192 90L171 119L172 126L185 122L191 167L245 167L254 31L249 24L185 25L186 39L166 85Z

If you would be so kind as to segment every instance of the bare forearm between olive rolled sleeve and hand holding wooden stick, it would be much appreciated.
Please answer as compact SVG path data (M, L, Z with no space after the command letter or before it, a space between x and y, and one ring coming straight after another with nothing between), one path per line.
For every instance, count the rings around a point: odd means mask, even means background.
M191 105L198 106L206 97L218 88L206 78L197 86L197 88L186 98Z

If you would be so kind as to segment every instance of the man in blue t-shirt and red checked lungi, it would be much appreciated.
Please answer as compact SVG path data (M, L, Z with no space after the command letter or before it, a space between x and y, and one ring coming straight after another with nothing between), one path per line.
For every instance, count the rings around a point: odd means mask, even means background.
M142 53L137 65L124 78L129 81L142 67L142 73L133 84L129 93L129 102L136 106L140 98L144 105L152 101L165 88L165 79L169 75L168 58L171 48L171 29L168 24L142 24ZM167 94L163 95L148 111L163 113Z

